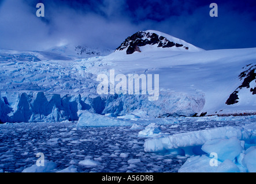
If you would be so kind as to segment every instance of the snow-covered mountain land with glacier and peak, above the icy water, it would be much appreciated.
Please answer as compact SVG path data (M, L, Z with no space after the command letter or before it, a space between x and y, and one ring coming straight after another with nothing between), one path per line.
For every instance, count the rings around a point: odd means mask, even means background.
M79 120L80 110L143 118L256 112L256 48L205 51L154 30L134 35L110 55L85 59L73 59L68 47L1 50L1 122ZM141 52L127 55L132 45ZM158 100L149 101L149 94L99 95L97 76L110 76L110 70L158 74Z

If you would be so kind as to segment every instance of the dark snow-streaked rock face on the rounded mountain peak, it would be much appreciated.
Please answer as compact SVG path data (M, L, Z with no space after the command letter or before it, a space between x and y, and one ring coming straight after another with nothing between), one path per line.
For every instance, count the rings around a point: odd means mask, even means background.
M135 51L141 52L139 47L155 44L157 44L157 47L162 48L183 47L184 49L189 49L182 44L174 43L173 41L170 41L163 36L159 36L158 34L140 31L125 39L116 51L123 51L124 49L127 49L127 54L132 54Z

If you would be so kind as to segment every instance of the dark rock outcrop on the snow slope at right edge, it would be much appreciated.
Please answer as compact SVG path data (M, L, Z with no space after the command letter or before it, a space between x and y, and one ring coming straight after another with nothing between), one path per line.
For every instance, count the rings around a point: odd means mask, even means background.
M250 68L248 68L250 67ZM232 104L236 104L238 103L238 99L239 99L239 91L243 88L243 87L246 87L246 88L250 88L250 83L252 81L254 81L256 79L256 73L255 73L255 70L256 70L256 65L254 66L251 66L251 64L248 64L246 66L246 68L248 68L246 71L243 71L240 75L239 75L239 79L243 82L242 82L242 85L240 85L230 96L229 98L227 99L227 102L226 104L227 105L232 105ZM256 82L256 80L255 80ZM252 94L256 94L256 87L251 88L250 89L250 92L253 92Z

